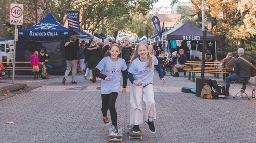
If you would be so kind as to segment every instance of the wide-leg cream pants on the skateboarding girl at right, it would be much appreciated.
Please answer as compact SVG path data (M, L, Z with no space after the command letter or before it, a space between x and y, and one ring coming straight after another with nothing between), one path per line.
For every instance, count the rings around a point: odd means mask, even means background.
M146 87L131 86L130 125L139 125L143 123L142 97L143 101L146 103L146 119L148 119L148 116L156 119L153 84L149 84Z

